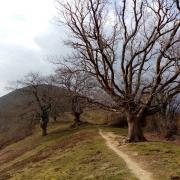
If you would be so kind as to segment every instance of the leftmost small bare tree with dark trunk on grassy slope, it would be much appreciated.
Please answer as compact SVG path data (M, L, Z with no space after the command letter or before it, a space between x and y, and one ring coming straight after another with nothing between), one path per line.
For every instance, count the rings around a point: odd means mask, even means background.
M42 77L39 73L29 73L24 79L16 82L18 87L23 87L23 95L31 96L31 103L40 114L40 126L42 136L47 135L47 125L51 111L58 108L59 88L53 85L50 77Z

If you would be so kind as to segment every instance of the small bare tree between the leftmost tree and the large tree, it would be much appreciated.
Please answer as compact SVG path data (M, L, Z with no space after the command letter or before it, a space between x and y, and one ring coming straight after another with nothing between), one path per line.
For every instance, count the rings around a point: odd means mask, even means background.
M56 69L55 80L60 87L66 89L68 92L66 95L71 99L71 110L74 115L72 127L81 125L80 117L87 107L88 99L92 96L92 89L95 88L94 81L87 73L73 70L62 64Z

